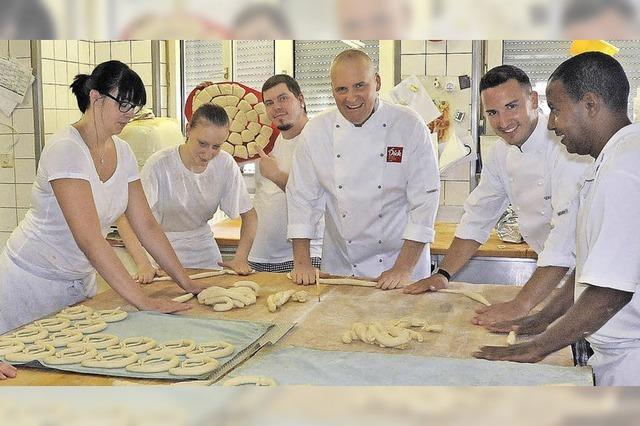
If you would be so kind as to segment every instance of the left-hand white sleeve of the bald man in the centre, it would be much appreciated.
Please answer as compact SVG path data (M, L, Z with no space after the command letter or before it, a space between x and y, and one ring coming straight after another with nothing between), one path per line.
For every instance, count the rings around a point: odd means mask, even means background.
M309 124L307 124L307 128ZM305 128L305 130L308 130ZM318 223L324 214L325 191L314 170L309 141L303 130L300 143L293 155L287 182L287 238L317 238Z

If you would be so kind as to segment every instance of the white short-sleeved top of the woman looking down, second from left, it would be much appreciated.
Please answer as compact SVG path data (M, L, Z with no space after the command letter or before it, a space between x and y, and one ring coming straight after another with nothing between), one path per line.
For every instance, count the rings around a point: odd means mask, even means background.
M233 157L224 151L202 173L187 169L179 146L153 154L140 175L156 220L186 268L220 269L220 249L207 221L222 209L229 217L251 210L251 200Z

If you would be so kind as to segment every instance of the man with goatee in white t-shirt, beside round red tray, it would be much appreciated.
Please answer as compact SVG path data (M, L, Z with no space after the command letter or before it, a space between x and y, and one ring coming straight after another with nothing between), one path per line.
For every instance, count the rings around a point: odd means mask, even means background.
M298 136L307 124L304 96L298 82L286 74L270 77L262 85L262 98L269 120L280 135L267 156L260 150L256 168L256 194L253 205L258 213L258 229L249 253L249 264L256 271L289 272L293 269L293 248L287 240L287 196L285 188ZM311 240L311 262L320 267L324 222L318 238Z

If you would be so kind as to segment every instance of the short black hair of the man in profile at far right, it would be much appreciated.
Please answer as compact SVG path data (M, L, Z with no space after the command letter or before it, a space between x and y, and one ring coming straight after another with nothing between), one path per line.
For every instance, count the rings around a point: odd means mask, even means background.
M549 83L553 81L560 81L574 102L591 92L611 111L627 111L629 79L620 62L610 55L585 52L567 59L549 77Z

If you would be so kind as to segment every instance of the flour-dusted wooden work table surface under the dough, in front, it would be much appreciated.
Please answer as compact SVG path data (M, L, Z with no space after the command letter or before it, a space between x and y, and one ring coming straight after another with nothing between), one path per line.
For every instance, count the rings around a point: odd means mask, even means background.
M228 287L239 278L219 276L201 281ZM247 278L241 278L247 279ZM430 293L427 295L406 295L401 290L382 291L366 287L326 286L302 287L288 280L285 274L256 273L250 277L262 287L255 305L228 312L214 312L211 307L200 305L191 299L191 309L180 315L193 315L217 319L244 319L275 323L295 323L296 326L277 345L293 345L323 350L365 351L420 356L470 358L482 345L504 345L505 334L489 333L484 328L471 323L479 303L458 294ZM483 294L491 302L505 301L513 297L517 287L504 285L477 285L451 283L452 288L468 288ZM270 313L266 306L266 296L276 291L296 288L309 292L306 303L290 302L276 313ZM181 294L181 289L172 282L156 282L143 286L143 291L152 296L172 298ZM318 301L317 293L321 301ZM109 289L84 303L94 309L112 309L118 306L134 310L113 290ZM372 322L393 320L407 315L426 319L432 324L440 324L441 333L423 333L424 342L413 342L406 350L398 351L380 348L362 342L349 345L341 343L342 333L355 321ZM571 366L571 351L565 348L551 354L543 363ZM0 386L8 385L117 385L117 384L167 384L164 380L143 380L114 378L89 374L19 368L15 379L0 381Z

